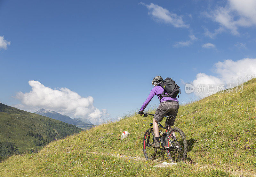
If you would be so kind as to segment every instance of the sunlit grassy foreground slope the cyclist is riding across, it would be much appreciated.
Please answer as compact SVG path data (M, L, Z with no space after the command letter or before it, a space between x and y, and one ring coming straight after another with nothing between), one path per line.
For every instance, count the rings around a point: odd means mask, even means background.
M197 102L180 106L179 118L176 119L175 126L184 131L189 143L186 164L179 163L178 166L159 169L153 167L156 162L146 163L91 153L144 157L142 137L151 120L135 114L121 121L109 122L78 135L55 141L37 154L12 156L1 163L0 176L230 175L224 172L226 170L234 175L245 172L255 174L255 93L256 79L252 79L244 84L243 93L216 93ZM124 130L129 131L130 135L120 141L120 135ZM161 159L161 155L158 153L157 158ZM242 166L243 162L244 166ZM196 163L211 166L213 169L198 170ZM250 169L253 171L250 172Z

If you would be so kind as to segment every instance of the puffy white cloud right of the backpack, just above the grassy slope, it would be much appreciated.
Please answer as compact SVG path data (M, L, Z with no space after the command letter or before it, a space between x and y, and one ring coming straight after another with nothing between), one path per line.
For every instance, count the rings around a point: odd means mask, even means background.
M196 79L192 82L197 90L198 85L213 85L215 90L207 94L201 94L202 97L216 92L216 86L242 84L245 81L256 78L256 58L244 58L242 60L233 61L225 60L214 64L214 72L217 76L198 73ZM207 92L207 90L205 90ZM197 95L200 95L197 94Z

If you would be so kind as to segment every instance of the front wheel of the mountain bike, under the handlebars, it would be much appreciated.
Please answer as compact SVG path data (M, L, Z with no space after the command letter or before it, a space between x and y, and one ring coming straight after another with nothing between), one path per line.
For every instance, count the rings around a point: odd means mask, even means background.
M153 160L156 157L156 148L153 148L151 145L155 142L155 133L154 130L151 130L149 136L149 142L147 145L149 129L146 130L144 138L143 138L143 152L146 160Z

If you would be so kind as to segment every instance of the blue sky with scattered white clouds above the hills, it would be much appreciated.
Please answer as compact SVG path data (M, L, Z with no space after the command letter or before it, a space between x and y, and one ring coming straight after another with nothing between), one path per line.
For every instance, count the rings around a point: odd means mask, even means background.
M255 76L255 9L251 0L1 1L0 102L101 123L138 110L160 75L186 103L196 96L184 83Z

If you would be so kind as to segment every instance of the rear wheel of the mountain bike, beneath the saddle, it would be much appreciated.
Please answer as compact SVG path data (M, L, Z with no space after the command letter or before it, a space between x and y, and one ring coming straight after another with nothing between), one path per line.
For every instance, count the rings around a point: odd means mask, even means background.
M174 134L175 136L173 136ZM174 162L186 160L188 144L183 131L179 128L172 128L168 136L171 140L171 142L168 140L167 147L170 148L166 150L169 160Z

